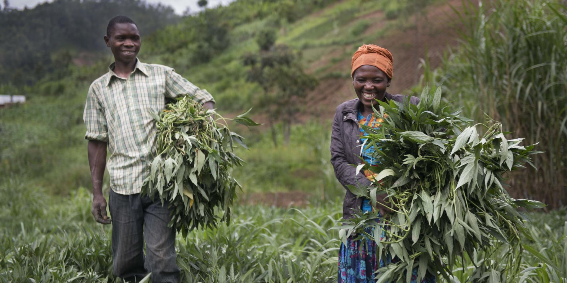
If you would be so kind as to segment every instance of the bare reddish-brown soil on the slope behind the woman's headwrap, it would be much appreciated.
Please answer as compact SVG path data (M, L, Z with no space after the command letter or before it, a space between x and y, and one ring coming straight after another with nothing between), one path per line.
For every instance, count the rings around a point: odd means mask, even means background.
M432 68L441 65L443 51L448 46L456 46L458 31L460 24L458 16L452 10L462 9L462 1L449 0L442 5L430 6L427 15L421 15L417 19L412 15L408 17L404 27L391 29L386 35L375 38L373 42L388 50L391 50L394 57L394 76L392 84L388 88L390 93L403 93L419 82L423 71L419 68L420 59L429 55L429 63ZM383 16L379 16L380 12L373 12L368 17L379 17L379 19L369 27L365 33L371 34L383 28L387 23ZM333 53L337 50L344 50L349 46L337 46ZM313 65L321 67L325 66L325 62L329 62L332 55L325 56L313 63ZM312 66L313 66L312 65ZM316 68L310 67L310 70ZM350 69L350 58L344 58L342 61L329 66L329 71L344 71ZM299 121L304 122L314 116L325 115L331 118L336 106L341 102L356 97L354 95L352 80L350 78L332 78L321 80L318 87L310 92L307 96L305 112L301 113Z

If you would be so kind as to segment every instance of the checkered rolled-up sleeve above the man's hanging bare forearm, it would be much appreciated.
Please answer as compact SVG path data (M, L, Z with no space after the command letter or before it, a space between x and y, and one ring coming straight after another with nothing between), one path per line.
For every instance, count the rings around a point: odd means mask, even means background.
M96 96L94 87L88 89L87 102L83 112L84 125L87 132L84 138L87 140L108 141L108 127L104 116L104 107Z

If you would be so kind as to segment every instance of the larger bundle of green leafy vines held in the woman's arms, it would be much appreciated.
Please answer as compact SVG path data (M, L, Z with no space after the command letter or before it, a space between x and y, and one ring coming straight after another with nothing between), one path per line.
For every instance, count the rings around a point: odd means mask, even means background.
M539 201L513 199L505 177L530 164L535 145L523 139L506 139L502 125L488 125L464 117L441 100L441 88L425 89L418 105L379 101L374 113L383 119L378 128L364 127L364 148L374 147L378 166L357 166L374 173L373 185L350 186L358 197L376 208L342 221L339 234L356 235L377 243L377 257L396 263L380 268L378 282L417 282L430 273L450 275L456 261L472 258L476 269L471 282L506 282L518 275L524 249L526 209ZM484 134L479 135L479 129ZM384 203L376 195L386 194ZM380 198L381 199L381 198ZM391 207L386 216L379 206ZM367 233L368 229L374 233ZM462 266L467 266L464 264Z

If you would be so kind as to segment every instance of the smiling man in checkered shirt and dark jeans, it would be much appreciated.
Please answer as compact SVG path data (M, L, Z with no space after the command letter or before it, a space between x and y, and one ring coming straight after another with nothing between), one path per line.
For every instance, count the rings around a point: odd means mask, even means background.
M141 39L137 25L126 16L108 23L104 41L115 62L107 74L88 90L84 109L87 126L88 163L92 179L92 208L95 220L112 223L113 273L126 281L139 281L151 272L151 280L179 282L175 261L175 230L167 228L170 210L159 198L141 196L143 179L155 156L156 125L151 113L165 107L165 98L191 95L213 109L214 99L174 69L138 60ZM107 216L102 194L106 155L111 192ZM143 244L146 243L146 254Z

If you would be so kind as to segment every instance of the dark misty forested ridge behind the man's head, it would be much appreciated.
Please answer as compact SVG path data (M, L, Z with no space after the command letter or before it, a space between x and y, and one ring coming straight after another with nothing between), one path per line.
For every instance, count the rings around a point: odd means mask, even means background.
M127 14L142 35L179 21L171 7L138 0L56 0L35 8L0 10L0 85L31 85L61 70L78 53L100 52L108 20ZM53 76L52 76L53 77Z

